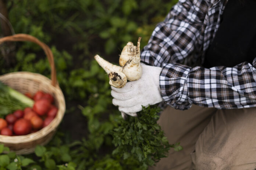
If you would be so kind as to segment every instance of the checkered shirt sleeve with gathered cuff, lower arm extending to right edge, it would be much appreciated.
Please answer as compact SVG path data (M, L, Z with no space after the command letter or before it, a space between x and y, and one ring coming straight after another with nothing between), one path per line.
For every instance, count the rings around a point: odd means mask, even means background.
M177 109L191 104L215 108L256 107L256 58L235 67L188 67L164 64L160 74L163 99Z

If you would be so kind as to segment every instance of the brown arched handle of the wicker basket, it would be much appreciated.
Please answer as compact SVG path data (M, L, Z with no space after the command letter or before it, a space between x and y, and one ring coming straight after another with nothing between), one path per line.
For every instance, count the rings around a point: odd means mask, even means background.
M4 41L31 41L31 42L34 42L35 44L40 45L40 47L43 48L43 51L45 51L45 54L48 58L48 61L51 67L51 84L53 86L57 85L56 69L54 65L53 53L45 43L39 41L37 38L28 34L14 34L13 36L6 36L3 38L0 38L0 44L2 44Z

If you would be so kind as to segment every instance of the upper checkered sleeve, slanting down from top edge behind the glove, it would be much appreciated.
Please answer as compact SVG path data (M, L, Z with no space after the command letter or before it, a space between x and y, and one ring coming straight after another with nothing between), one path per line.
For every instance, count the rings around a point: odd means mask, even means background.
M166 19L154 29L141 52L142 62L162 67L164 63L182 63L202 46L200 30L208 10L206 0L179 0Z

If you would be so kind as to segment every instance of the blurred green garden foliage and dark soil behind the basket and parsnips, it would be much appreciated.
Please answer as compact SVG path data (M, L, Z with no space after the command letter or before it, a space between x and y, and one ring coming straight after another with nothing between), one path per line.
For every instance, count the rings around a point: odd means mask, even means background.
M122 118L111 104L108 77L93 56L118 63L124 45L136 43L139 36L142 48L175 3L177 0L0 0L0 12L15 33L30 34L50 46L67 104L56 137L46 147L38 147L36 154L26 158L2 154L0 165L3 157L10 163L3 167L10 170L147 169L149 164L141 167L132 154L124 155L125 161L112 154L113 130ZM6 32L3 18L0 21L0 36L11 34L11 30ZM37 45L6 43L0 51L0 75L31 71L50 77L48 61ZM11 161L16 159L29 160L14 166Z

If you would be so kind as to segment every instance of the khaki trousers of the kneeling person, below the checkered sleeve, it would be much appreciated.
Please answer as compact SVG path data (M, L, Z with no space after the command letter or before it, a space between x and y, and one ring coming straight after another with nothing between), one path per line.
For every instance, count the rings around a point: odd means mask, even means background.
M253 170L256 168L256 108L217 110L193 105L181 111L167 107L159 124L170 149L149 170Z

